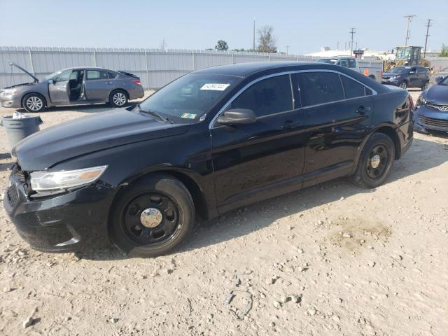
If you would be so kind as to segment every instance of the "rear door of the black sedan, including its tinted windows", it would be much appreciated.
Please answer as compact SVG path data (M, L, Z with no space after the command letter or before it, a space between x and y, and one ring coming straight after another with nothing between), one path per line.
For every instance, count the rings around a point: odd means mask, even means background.
M304 187L351 172L370 127L372 91L335 72L296 73L293 85L304 112Z

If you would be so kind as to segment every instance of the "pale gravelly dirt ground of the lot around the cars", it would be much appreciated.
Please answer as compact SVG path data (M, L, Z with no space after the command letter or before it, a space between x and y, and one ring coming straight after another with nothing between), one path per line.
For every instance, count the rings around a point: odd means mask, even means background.
M41 128L106 109L54 108ZM39 253L1 207L0 335L448 335L447 161L448 137L415 134L380 188L254 204L155 259ZM2 190L11 162L0 129Z

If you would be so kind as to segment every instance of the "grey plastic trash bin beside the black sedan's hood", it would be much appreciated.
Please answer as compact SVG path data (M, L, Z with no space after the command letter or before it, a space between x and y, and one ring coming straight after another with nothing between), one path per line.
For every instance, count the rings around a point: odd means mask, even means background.
M13 116L3 117L0 125L5 127L9 150L11 151L20 140L38 132L41 123L39 116L23 116L20 119L13 119Z

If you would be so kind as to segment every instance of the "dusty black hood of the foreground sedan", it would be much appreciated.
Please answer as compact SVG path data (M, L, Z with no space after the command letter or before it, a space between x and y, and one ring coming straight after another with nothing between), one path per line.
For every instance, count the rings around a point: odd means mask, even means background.
M188 124L162 123L127 109L95 113L32 134L13 148L22 170L47 169L58 162L106 148L132 144L188 131Z

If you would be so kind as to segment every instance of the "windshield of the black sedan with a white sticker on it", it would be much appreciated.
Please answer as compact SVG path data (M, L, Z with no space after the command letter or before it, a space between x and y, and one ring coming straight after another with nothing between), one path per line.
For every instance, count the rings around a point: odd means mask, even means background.
M169 120L196 122L242 78L212 73L188 73L162 87L144 102L142 111L161 114Z

